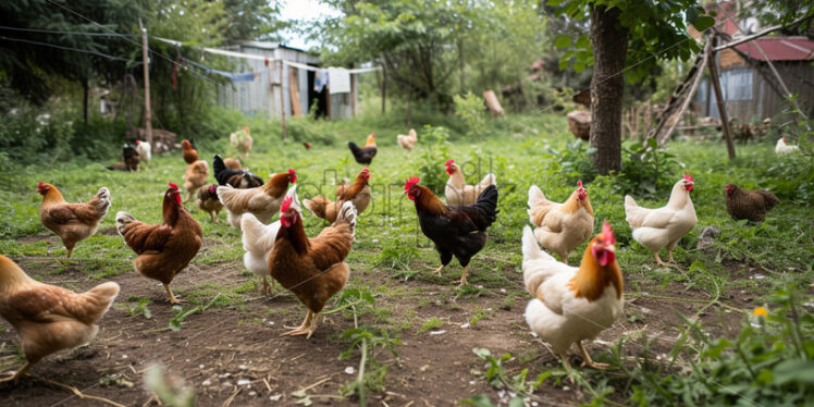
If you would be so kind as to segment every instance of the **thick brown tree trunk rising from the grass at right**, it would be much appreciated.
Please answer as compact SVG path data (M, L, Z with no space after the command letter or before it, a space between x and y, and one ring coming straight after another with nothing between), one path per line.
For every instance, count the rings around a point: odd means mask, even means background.
M625 92L625 59L628 32L619 23L619 9L591 9L591 146L600 174L621 168L621 98Z

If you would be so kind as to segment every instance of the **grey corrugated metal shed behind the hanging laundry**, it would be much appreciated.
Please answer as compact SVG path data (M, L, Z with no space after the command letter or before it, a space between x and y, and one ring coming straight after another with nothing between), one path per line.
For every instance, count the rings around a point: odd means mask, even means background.
M286 118L306 115L316 104L318 118L346 119L355 114L356 81L350 75L350 91L330 94L330 87L318 85L318 75L326 75L320 69L320 61L304 50L287 47L280 42L245 41L224 47L224 50L261 58L230 57L238 61L238 72L249 75L235 75L231 84L218 87L218 103L238 109L244 114L268 114L279 118L282 106ZM280 86L280 61L283 64L282 87ZM306 67L308 66L308 67ZM254 73L250 75L250 73Z

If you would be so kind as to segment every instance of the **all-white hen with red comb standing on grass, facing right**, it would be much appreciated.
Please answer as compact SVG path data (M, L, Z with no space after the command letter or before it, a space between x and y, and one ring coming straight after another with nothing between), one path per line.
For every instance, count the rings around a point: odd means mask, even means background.
M692 176L686 174L673 186L667 206L657 209L642 208L629 195L625 196L625 214L633 230L633 239L653 251L658 266L676 266L673 260L673 248L698 223L695 208L690 199L694 184ZM662 247L667 248L669 263L665 263L658 257Z

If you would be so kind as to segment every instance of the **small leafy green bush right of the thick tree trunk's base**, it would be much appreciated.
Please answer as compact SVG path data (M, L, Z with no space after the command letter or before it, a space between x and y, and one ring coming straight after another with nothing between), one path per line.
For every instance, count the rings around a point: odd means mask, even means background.
M669 192L677 180L677 169L682 165L676 156L658 146L655 138L646 141L622 144L619 180L626 193L655 196Z

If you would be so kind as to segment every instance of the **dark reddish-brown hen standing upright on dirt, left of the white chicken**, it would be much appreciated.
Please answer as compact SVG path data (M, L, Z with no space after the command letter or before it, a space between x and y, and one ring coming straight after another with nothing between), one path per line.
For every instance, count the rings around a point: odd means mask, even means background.
M164 193L162 224L139 222L127 212L115 214L115 225L124 243L138 255L133 266L141 275L160 281L170 303L181 303L170 283L198 254L203 240L200 224L181 205L178 186L170 183Z

